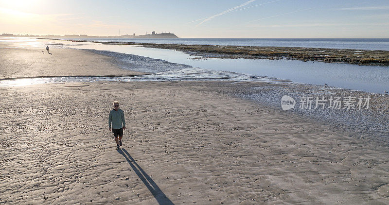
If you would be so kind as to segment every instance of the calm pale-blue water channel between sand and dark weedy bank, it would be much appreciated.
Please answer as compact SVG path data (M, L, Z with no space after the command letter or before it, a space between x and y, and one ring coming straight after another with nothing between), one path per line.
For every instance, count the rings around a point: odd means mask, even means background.
M389 90L389 67L358 66L355 64L323 63L299 60L220 59L201 58L175 50L144 48L133 45L106 45L89 42L71 42L70 48L91 49L101 54L106 51L134 54L162 59L194 68L229 71L258 77L273 77L296 83L330 85L335 87L383 93ZM128 68L131 69L131 68ZM147 71L147 70L138 70Z

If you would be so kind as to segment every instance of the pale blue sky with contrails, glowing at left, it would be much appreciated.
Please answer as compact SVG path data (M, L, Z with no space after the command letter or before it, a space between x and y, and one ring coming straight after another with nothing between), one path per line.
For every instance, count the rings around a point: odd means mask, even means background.
M389 0L0 0L0 33L389 38Z

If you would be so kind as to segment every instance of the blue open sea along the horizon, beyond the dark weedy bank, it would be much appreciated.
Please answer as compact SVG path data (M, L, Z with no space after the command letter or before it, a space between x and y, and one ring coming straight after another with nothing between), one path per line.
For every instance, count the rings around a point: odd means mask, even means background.
M67 40L175 43L192 45L279 46L389 51L389 38L63 38Z

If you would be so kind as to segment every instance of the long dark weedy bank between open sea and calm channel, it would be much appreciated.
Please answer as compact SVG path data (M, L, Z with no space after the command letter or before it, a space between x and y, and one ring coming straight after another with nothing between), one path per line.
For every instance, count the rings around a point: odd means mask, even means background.
M65 40L54 38L39 38ZM68 40L69 41L69 40ZM87 40L70 40L87 41ZM201 55L205 58L246 58L246 59L296 59L301 61L318 61L326 63L348 63L369 66L389 66L389 51L272 47L272 46L223 46L223 45L189 45L172 43L134 43L87 41L110 45L133 45L146 48L170 49Z

